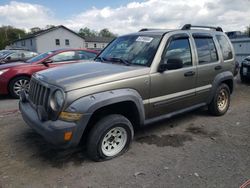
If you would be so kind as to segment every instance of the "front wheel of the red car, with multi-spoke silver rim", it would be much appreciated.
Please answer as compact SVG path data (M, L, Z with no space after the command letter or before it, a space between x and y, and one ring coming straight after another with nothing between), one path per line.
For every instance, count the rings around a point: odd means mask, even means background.
M9 83L9 92L13 98L19 99L19 92L24 90L29 91L30 78L27 76L19 76L14 78Z

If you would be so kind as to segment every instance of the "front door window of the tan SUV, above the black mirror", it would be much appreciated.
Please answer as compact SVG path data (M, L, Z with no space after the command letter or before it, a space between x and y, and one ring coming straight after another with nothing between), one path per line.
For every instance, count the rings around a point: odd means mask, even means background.
M178 68L192 66L191 48L188 38L174 39L165 52L164 64L179 63ZM177 69L177 68L176 68Z

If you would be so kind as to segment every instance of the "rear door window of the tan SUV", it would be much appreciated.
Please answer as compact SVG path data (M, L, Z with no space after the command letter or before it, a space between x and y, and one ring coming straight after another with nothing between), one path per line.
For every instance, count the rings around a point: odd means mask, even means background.
M199 64L207 64L218 61L218 54L215 48L213 38L210 37L198 37L194 38Z

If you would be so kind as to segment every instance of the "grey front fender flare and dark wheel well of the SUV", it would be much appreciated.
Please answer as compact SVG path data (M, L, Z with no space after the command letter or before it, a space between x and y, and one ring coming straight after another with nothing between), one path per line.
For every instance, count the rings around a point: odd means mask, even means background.
M134 128L144 124L145 112L143 100L134 89L117 89L82 97L74 101L66 111L75 109L88 114L88 120L81 120L79 136L86 138L92 126L103 116L120 114L129 119Z

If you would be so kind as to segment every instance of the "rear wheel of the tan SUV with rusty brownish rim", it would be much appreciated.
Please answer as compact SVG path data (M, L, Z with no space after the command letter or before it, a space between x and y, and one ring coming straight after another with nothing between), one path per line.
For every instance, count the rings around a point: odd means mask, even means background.
M208 110L212 115L222 116L224 115L230 106L230 90L226 84L221 84L212 99L212 102L208 105Z

